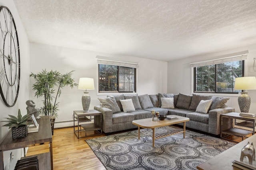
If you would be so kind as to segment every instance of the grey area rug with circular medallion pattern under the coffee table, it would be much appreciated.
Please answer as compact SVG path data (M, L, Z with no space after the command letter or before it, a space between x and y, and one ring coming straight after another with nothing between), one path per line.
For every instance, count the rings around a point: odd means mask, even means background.
M175 127L176 128L176 127ZM142 129L145 130L145 129ZM155 140L138 131L85 140L107 170L196 170L234 143L186 130Z

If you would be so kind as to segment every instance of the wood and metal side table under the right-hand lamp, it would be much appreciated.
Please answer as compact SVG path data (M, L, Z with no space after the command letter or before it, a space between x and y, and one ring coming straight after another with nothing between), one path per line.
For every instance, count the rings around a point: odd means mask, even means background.
M223 134L234 135L234 136L241 137L242 141L243 141L244 137L246 137L250 133L252 133L252 135L254 135L256 117L240 116L239 114L240 113L231 112L231 113L225 113L225 114L221 114L220 115L220 119L221 119L221 133L220 133L220 137L221 138L225 138L225 137L222 136ZM243 126L243 127L249 127L249 128L252 128L253 130L252 131L248 131L248 130L245 130L245 129L239 129L239 128L233 127L232 125L230 126L231 127L230 129L222 129L223 117L234 119L235 120L235 125ZM244 120L244 121L241 122L241 123L236 123L236 119ZM231 123L232 123L232 121L231 121Z

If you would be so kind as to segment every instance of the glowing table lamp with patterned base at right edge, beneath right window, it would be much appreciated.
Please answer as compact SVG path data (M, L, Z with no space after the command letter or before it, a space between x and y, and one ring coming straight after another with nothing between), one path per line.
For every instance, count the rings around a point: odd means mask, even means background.
M255 90L256 77L238 77L235 80L234 90ZM240 92L238 97L238 105L241 112L248 113L251 105L251 98L248 92Z

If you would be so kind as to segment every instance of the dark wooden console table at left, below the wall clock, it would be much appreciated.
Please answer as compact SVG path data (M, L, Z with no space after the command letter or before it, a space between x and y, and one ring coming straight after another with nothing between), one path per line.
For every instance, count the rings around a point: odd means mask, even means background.
M26 148L26 147L36 146L36 145L45 145L45 144L50 144L50 147L49 147L50 152L36 154L34 156L38 156L40 170L53 170L52 130L51 130L51 123L50 123L50 116L41 116L41 118L38 120L38 124L39 124L38 132L28 133L27 137L12 139L11 131L8 132L5 139L0 144L0 170L4 170L4 160L3 160L4 151ZM48 166L49 163L51 166Z

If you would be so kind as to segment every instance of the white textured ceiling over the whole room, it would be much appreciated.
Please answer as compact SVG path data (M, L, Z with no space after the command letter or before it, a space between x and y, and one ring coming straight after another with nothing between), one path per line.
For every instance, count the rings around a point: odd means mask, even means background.
M32 43L161 61L256 43L256 0L14 0Z

